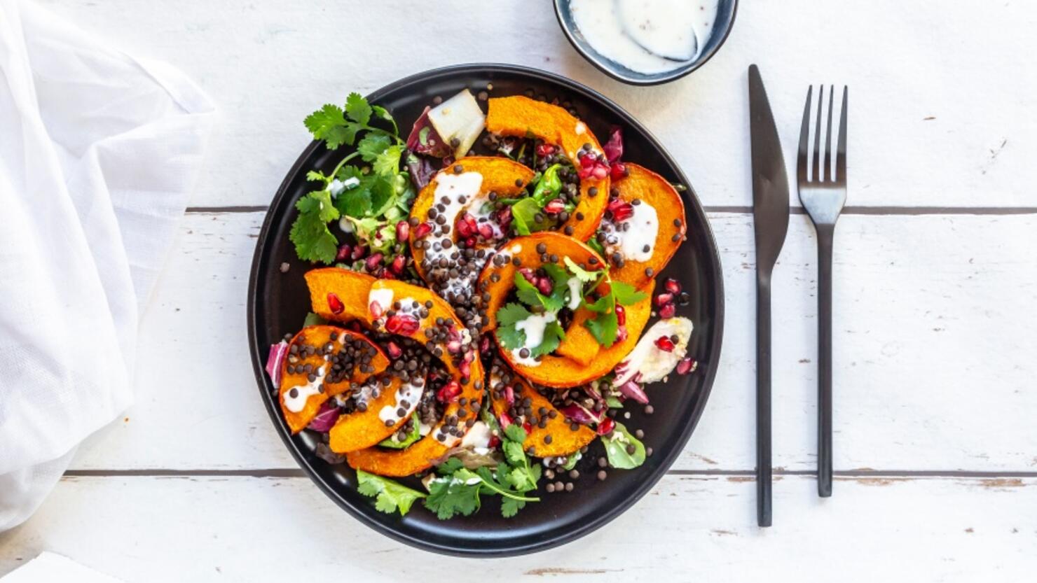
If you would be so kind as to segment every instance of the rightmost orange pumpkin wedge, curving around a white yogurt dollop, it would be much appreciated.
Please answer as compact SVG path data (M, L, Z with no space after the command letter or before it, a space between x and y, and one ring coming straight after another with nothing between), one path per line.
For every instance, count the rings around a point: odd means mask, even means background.
M613 183L619 191L619 198L625 202L651 206L655 209L658 230L655 242L652 244L651 258L648 261L626 259L622 267L613 265L609 274L617 282L625 282L636 288L644 286L648 280L663 271L663 268L677 253L677 247L684 240L685 220L684 203L680 200L673 184L651 170L636 164L626 164L629 174ZM635 211L638 212L638 211ZM636 217L637 215L635 215ZM637 225L634 226L637 228ZM677 240L673 240L676 236ZM647 269L651 269L649 275Z

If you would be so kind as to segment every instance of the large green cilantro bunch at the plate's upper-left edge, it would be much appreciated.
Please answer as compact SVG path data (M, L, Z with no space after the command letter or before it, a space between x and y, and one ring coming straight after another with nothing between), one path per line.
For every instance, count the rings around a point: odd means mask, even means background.
M375 120L392 130L371 125ZM397 243L395 222L407 214L414 198L409 175L400 171L405 143L396 120L385 108L351 93L344 108L325 105L305 124L331 150L356 148L330 173L307 173L306 179L317 182L318 188L296 203L299 216L289 233L296 253L306 261L334 263L339 240L329 224L340 222L372 252L388 255Z

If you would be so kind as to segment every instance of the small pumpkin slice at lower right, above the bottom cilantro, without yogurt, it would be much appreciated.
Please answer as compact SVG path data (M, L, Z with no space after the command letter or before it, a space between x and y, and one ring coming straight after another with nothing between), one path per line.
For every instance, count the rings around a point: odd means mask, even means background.
M515 401L530 400L530 408L533 415L530 418L520 415L509 414L511 406L508 405L504 386L511 387L511 393ZM501 424L517 422L525 425L529 421L526 441L523 446L531 455L538 458L568 456L587 445L596 437L596 433L587 426L573 426L551 404L544 396L529 385L522 377L514 375L510 383L504 383L499 374L489 376L489 397L494 405L494 414ZM552 416L554 412L554 416ZM543 424L541 427L540 424ZM577 427L573 431L572 428ZM550 436L550 439L548 439Z

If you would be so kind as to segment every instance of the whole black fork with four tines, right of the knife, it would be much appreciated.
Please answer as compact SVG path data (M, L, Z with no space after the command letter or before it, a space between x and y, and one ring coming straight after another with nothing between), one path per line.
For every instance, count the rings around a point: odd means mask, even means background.
M832 495L832 242L836 221L846 203L846 105L848 89L843 87L839 115L836 166L832 169L832 110L835 87L829 90L828 127L821 141L821 110L824 109L824 86L817 89L817 123L811 161L810 109L813 87L807 90L807 106L800 130L800 156L796 181L800 201L817 230L817 495ZM821 146L824 165L821 166ZM812 164L810 164L812 162ZM808 166L810 175L808 176Z

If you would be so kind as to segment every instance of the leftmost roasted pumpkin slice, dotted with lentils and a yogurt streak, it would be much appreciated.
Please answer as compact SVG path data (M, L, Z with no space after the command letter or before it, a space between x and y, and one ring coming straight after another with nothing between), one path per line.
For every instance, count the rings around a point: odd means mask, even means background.
M354 366L361 354L370 362ZM333 370L335 363L343 367ZM336 326L303 328L291 339L281 371L281 411L291 433L306 429L329 398L388 367L385 353L363 334Z

